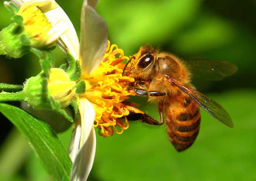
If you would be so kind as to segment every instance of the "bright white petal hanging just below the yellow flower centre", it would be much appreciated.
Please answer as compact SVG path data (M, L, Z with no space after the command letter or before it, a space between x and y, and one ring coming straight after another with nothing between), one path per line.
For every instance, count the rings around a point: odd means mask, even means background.
M89 102L86 98L80 98L79 112L80 118L75 120L69 146L69 155L73 162L78 154L79 148L82 148L83 144L89 137L89 133L92 129L94 129L93 122L95 119L95 110L91 102Z

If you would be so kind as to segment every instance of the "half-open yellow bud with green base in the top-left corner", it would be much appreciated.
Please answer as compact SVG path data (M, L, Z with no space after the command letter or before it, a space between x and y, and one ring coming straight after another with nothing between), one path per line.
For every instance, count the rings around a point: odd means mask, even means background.
M57 7L51 1L24 2L12 17L12 23L0 32L0 55L19 58L29 53L31 47L46 49L68 31L66 20L53 24L45 15Z

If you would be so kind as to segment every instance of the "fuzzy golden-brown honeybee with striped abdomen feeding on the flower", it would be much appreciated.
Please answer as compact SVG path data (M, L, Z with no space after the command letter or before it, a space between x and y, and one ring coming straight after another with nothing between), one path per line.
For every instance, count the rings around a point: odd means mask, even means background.
M135 79L130 84L131 91L135 95L148 96L149 102L158 102L160 114L160 121L144 112L131 112L128 119L139 119L155 125L166 122L169 140L178 152L189 148L197 138L201 121L200 108L230 128L234 127L223 106L193 87L192 70L206 79L221 80L233 75L237 67L219 60L183 61L147 45L141 47L123 69L123 75Z

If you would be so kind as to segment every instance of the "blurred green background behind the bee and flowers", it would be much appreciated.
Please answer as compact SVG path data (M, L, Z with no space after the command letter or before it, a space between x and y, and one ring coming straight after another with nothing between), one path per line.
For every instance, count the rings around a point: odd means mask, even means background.
M1 0L1 3L3 1ZM57 0L80 33L82 0ZM165 126L131 122L122 135L97 135L95 163L89 181L254 181L256 180L256 1L230 0L99 0L96 8L108 24L109 40L126 56L150 44L183 59L218 59L238 72L220 82L193 83L230 113L234 129L202 110L202 123L191 148L178 153ZM10 15L0 6L0 29ZM54 50L61 64L64 53ZM33 55L0 56L0 82L22 84L39 73ZM158 119L156 105L141 109ZM19 105L18 103L14 103ZM39 160L17 130L1 115L0 180L50 181ZM70 129L59 134L68 148Z

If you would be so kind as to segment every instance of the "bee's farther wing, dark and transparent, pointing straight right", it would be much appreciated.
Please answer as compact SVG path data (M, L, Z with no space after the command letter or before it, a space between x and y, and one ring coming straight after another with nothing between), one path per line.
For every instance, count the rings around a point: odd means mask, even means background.
M237 71L237 66L221 60L198 59L184 62L190 68L193 77L204 80L222 80Z

